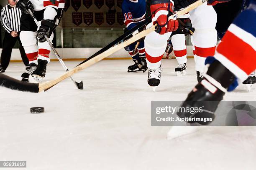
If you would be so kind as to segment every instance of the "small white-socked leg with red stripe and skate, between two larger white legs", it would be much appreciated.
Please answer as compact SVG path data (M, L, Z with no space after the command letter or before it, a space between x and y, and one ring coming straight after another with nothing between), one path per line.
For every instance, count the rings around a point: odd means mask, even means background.
M178 66L175 68L177 76L186 75L187 71L187 47L184 34L172 35L172 45Z

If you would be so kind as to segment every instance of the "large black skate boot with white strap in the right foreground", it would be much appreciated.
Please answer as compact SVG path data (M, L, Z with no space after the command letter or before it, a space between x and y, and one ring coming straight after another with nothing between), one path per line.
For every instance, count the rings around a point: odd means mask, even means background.
M182 103L181 107L203 107L202 112L177 112L179 117L197 117L197 118L211 118L214 120L216 111L220 100L223 100L226 89L235 80L235 75L230 72L224 65L218 60L213 62L208 68L205 76L194 87L194 89L188 94L187 99ZM212 121L189 121L189 123L199 123L201 125L207 125Z

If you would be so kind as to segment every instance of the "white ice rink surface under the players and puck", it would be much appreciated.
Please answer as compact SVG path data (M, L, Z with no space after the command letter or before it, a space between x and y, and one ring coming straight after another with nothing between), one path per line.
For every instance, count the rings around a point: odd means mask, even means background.
M39 94L0 87L0 161L27 161L24 170L255 169L255 127L208 127L166 140L172 127L151 126L151 100L184 100L197 83L193 59L182 77L175 76L176 60L163 60L156 92L146 72L127 72L131 64L104 60L75 74L83 91L70 79ZM23 70L10 63L5 74L20 78ZM63 73L50 62L45 80ZM255 86L248 93L241 85L225 100L256 100ZM30 107L45 112L31 114Z

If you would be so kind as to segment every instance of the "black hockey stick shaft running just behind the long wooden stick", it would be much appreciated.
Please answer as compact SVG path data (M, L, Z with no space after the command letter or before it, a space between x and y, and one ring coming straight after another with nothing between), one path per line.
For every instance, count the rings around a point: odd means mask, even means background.
M128 30L127 32L125 32L123 35L121 35L120 37L118 37L117 39L115 39L114 41L110 42L107 46L103 47L102 49L100 49L99 51L97 51L95 54L93 54L92 56L90 56L89 58L87 58L86 60L84 60L83 62L81 62L79 65L83 64L84 62L87 62L88 60L92 59L93 57L101 54L102 52L105 52L106 50L110 49L111 47L113 47L114 45L120 43L123 41L123 39L125 39L126 37L128 37L129 35L131 35L134 31L143 28L145 25L147 25L148 23L151 22L151 16L149 16L148 18L146 18L144 21L142 21L141 23L139 23L138 25L136 25L135 27L133 27L131 30ZM77 65L78 66L78 65ZM76 67L77 67L76 66Z

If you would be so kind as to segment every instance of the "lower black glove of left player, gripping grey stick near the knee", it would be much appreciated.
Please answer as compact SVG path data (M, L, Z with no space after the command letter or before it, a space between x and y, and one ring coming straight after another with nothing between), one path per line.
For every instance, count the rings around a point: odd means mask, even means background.
M54 20L42 20L41 21L41 27L37 31L37 37L39 38L39 42L45 42L46 38L44 35L46 35L48 38L51 37L51 34L53 32L54 28Z

